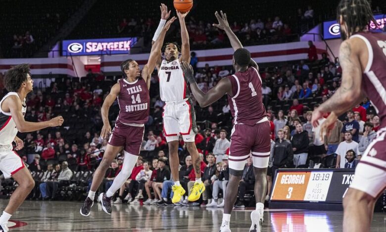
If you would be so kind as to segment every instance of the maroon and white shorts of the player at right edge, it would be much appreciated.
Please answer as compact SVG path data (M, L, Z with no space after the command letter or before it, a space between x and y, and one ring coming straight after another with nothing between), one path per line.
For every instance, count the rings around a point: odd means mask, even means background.
M377 132L377 138L367 147L355 168L350 188L377 197L386 188L386 127Z

